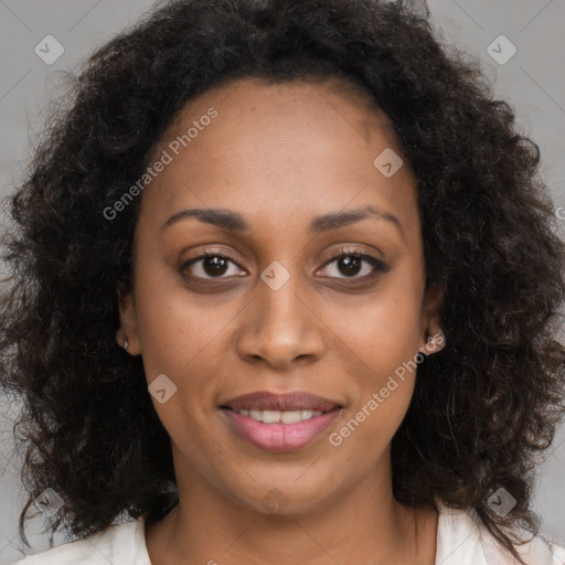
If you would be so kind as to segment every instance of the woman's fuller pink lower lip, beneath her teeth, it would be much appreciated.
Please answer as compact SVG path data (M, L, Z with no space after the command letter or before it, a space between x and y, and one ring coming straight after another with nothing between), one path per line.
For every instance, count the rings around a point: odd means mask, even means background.
M308 446L331 426L340 412L341 408L334 408L296 424L265 424L250 416L222 408L232 429L239 437L259 449L274 452L295 451Z

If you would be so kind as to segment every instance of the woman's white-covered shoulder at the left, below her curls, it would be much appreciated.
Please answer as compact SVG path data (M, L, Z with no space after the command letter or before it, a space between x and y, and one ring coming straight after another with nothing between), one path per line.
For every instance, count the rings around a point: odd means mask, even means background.
M84 540L28 555L14 565L151 565L145 544L143 519L113 524Z

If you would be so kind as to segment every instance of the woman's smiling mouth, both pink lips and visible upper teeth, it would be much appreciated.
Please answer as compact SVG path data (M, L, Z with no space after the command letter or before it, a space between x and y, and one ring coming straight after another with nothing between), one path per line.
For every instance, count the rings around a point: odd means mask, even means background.
M231 431L271 452L295 451L318 439L342 406L309 393L257 392L220 406Z

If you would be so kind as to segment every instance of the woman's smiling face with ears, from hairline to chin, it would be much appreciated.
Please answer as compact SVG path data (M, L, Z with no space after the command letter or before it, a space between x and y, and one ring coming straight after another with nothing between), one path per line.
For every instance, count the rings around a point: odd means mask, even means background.
M306 512L390 491L437 328L391 120L330 83L242 79L192 100L154 156L117 339L142 355L180 492Z

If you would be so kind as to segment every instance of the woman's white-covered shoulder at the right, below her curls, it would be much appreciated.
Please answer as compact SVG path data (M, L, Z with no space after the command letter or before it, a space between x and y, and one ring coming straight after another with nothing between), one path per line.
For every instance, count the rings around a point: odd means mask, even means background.
M473 511L439 507L436 564L518 565ZM516 547L527 565L565 565L565 548L536 535Z

